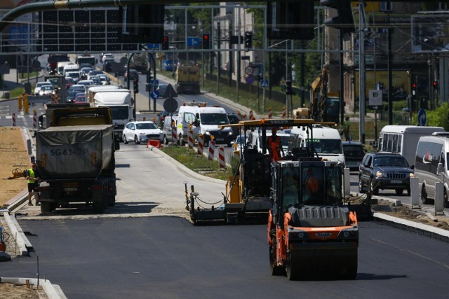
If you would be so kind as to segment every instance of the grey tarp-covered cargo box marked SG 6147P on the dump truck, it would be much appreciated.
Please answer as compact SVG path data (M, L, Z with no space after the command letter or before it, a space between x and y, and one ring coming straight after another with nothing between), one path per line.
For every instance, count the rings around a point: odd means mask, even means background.
M42 180L95 179L108 167L114 125L49 127L36 131L36 162Z

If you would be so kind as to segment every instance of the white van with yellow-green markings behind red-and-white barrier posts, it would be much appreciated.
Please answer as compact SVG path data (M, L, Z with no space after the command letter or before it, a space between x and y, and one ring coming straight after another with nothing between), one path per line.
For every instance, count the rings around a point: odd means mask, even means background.
M217 106L180 106L177 113L177 136L180 144L187 143L187 132L191 128L194 139L203 134L204 146L208 146L213 137L215 144L231 146L233 141L232 129L219 129L220 125L229 125L229 119L224 108Z

